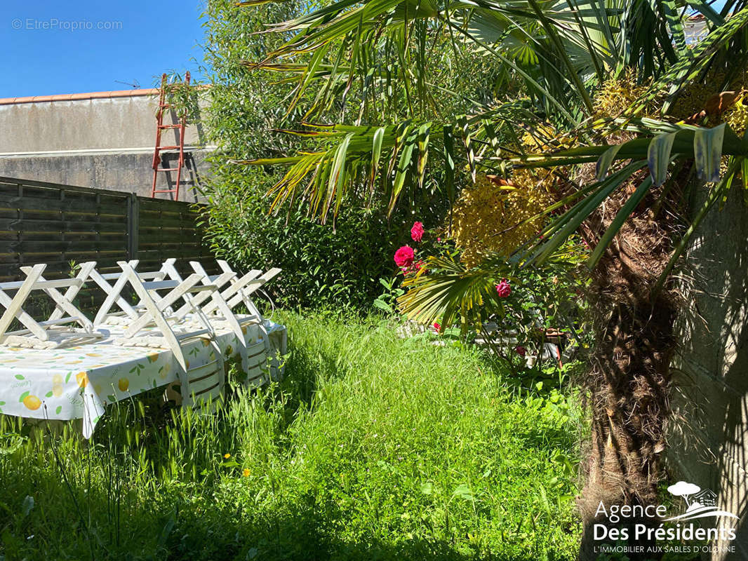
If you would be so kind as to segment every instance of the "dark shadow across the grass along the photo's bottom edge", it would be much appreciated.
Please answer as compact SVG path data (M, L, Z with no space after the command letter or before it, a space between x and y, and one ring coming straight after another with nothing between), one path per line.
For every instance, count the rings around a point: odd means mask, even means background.
M168 503L162 502L158 509L142 504L129 505L124 500L117 515L111 497L104 493L85 493L83 488L73 488L73 492L79 497L79 506L84 507L82 517L76 514L70 495L62 500L58 497L55 505L57 509L70 506L67 515L37 508L19 520L17 526L13 521L3 521L0 516L0 559L505 559L485 551L457 551L453 543L444 540L407 539L396 533L387 536L359 533L355 539L342 537L346 521L355 513L330 504L319 505L311 494L302 500L302 504L283 505L260 512L245 512L242 506L235 505L196 504L194 500L177 497ZM530 561L537 556L511 559Z

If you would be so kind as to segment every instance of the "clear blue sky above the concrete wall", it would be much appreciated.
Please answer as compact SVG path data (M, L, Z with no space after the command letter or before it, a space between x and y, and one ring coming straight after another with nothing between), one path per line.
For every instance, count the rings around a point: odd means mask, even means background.
M151 88L202 62L201 0L1 0L0 97Z

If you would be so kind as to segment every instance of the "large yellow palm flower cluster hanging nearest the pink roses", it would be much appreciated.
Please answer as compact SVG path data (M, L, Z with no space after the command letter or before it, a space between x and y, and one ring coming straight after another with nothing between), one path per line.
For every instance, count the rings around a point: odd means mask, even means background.
M452 239L465 265L479 265L491 253L511 254L543 226L543 218L518 224L552 202L551 174L517 170L511 182L514 186L500 186L479 174L475 185L460 192L452 209Z

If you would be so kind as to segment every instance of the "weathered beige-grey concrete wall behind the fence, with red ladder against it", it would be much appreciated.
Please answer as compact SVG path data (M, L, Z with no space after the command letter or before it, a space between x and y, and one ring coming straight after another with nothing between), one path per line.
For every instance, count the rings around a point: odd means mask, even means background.
M0 176L150 196L157 105L154 90L1 99ZM174 111L164 123L178 123ZM199 198L212 150L203 136L201 125L188 124L180 200ZM166 129L162 145L178 138L176 129ZM162 167L176 167L176 153L163 158L170 163ZM176 172L159 173L157 188L173 188L176 179Z

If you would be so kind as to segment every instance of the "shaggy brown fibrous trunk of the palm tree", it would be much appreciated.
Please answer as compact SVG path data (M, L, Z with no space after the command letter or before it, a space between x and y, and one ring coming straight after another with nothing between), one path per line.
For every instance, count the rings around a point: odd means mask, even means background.
M652 211L656 195L640 206L593 272L597 337L586 379L592 438L578 500L584 524L582 559L596 559L594 546L604 543L595 539L592 527L607 523L604 515L595 518L600 503L607 512L611 505L652 504L662 479L675 298L667 290L652 290L672 249L672 224L663 218L665 213ZM623 197L599 212L591 235L607 228ZM629 527L629 545L636 523L659 524L651 518L615 524Z

